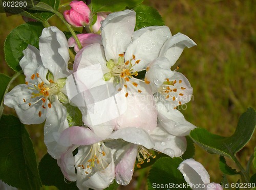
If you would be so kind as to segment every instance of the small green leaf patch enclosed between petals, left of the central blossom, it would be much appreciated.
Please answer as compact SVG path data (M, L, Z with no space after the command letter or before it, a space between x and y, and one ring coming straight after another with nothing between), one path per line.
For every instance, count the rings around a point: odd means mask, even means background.
M82 126L82 113L78 109L78 107L72 106L70 104L63 104L67 109L67 120L69 122L69 126Z

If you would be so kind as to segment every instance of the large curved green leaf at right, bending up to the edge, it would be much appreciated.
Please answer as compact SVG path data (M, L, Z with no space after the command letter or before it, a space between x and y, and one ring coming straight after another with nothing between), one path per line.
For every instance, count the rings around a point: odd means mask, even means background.
M239 150L250 140L256 125L256 113L253 108L241 115L236 131L231 137L222 137L211 134L205 129L196 128L190 132L190 137L195 143L210 153L234 158Z

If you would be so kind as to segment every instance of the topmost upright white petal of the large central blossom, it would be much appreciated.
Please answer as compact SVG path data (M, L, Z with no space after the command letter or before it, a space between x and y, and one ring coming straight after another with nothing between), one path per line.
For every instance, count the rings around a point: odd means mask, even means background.
M123 53L131 42L135 28L136 13L124 10L109 14L102 23L102 43L106 60L117 62L118 55Z

